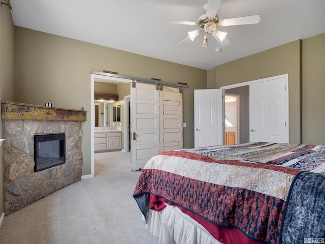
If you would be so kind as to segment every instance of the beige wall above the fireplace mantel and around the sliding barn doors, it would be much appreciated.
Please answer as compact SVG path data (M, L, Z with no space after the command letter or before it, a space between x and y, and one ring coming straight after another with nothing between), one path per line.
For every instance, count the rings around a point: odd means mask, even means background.
M206 88L207 72L163 60L15 27L15 102L90 111L90 71L185 82L184 147L193 147L193 89ZM82 123L83 175L90 174L90 114Z

